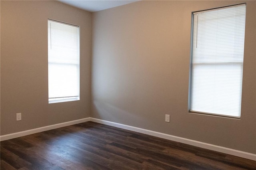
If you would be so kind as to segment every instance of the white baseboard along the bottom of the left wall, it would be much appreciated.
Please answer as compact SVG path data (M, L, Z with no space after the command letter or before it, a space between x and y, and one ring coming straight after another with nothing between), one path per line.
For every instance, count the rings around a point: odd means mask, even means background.
M52 130L52 129L60 128L60 127L66 127L66 126L75 125L78 123L83 123L83 122L88 122L88 121L90 121L90 117L84 118L84 119L78 119L78 120L74 120L74 121L69 121L69 122L64 122L64 123L58 123L55 125L49 125L46 127L34 128L34 129L25 130L25 131L21 131L21 132L6 134L6 135L0 136L0 141L12 139L12 138L18 138L18 137L26 136L29 134L43 132L46 130Z

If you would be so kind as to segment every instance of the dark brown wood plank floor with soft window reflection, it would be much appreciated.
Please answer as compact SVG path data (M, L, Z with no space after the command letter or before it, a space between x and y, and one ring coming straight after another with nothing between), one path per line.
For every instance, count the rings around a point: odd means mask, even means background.
M256 161L93 122L1 142L1 170L256 170Z

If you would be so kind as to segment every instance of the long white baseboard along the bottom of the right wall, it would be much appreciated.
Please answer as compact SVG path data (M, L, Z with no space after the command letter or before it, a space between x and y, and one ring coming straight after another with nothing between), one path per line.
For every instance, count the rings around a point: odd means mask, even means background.
M256 161L256 154L243 152L243 151L240 151L240 150L235 150L235 149L231 149L231 148L217 146L217 145L214 145L214 144L199 142L199 141L196 141L196 140L191 140L191 139L187 139L187 138L173 136L173 135L170 135L170 134L160 133L160 132L147 130L147 129L143 129L143 128L132 127L132 126L129 126L129 125L123 125L123 124L120 124L120 123L104 121L104 120L96 119L96 118L92 118L92 117L90 117L90 121L100 123L100 124L104 124L104 125L110 125L110 126L113 126L113 127L123 128L123 129L126 129L126 130L132 130L132 131L135 131L135 132L140 132L140 133L148 134L148 135L151 135L151 136L156 136L156 137L160 137L160 138L164 138L164 139L168 139L168 140L173 140L173 141L176 141L176 142L189 144L189 145L192 145L192 146L197 146L197 147L200 147L200 148L214 150L214 151L217 151L217 152L222 152L222 153L225 153L225 154L230 154L230 155L233 155L233 156L238 156L238 157L241 157L241 158L246 158L246 159Z

